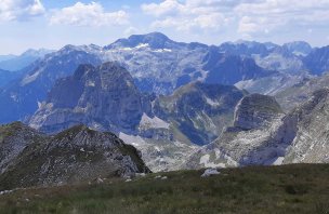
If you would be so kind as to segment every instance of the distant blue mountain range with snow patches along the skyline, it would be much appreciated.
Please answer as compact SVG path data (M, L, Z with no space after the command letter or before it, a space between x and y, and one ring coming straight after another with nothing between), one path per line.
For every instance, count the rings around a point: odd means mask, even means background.
M73 75L80 64L117 62L130 71L141 92L167 95L194 81L233 85L262 79L262 85L266 85L272 81L266 77L299 76L306 67L300 52L310 51L307 46L303 42L280 46L250 41L209 46L175 42L160 32L152 32L119 39L104 48L66 45L43 57L31 51L23 55L39 59L22 69L23 77L0 92L0 122L23 120L34 113L55 81Z

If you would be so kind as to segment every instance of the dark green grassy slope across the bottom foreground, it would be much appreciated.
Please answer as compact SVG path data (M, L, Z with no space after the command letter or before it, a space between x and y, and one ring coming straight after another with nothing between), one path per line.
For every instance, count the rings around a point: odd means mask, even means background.
M329 165L150 174L0 196L0 213L329 213ZM156 176L167 176L167 179Z

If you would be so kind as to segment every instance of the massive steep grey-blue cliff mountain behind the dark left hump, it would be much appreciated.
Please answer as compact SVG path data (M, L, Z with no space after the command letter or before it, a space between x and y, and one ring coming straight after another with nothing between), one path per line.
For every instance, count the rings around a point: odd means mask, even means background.
M143 96L124 68L116 63L82 65L56 82L29 123L49 133L79 123L113 132L134 130L143 108Z

